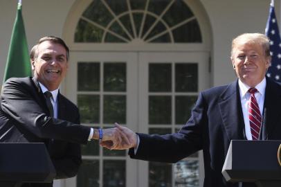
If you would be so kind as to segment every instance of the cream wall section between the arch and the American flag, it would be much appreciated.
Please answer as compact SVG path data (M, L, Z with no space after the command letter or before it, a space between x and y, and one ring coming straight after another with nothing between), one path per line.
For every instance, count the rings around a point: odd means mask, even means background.
M213 84L235 79L230 63L231 40L242 33L264 33L270 0L201 0L213 33ZM275 0L276 17L280 1ZM278 21L280 26L280 21Z

